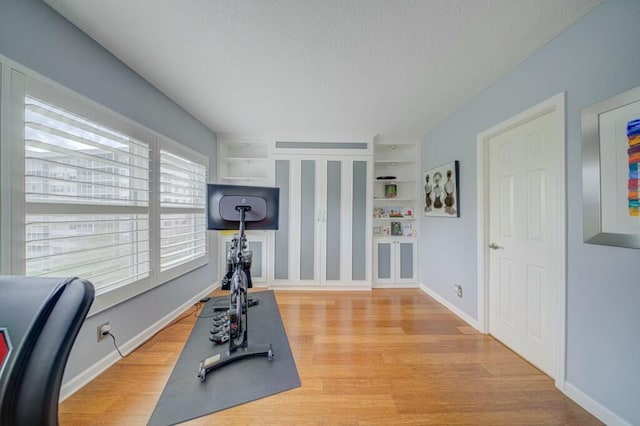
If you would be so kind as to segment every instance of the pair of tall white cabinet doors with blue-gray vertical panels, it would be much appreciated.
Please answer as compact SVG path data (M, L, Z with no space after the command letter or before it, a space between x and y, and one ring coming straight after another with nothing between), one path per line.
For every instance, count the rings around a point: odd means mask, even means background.
M276 286L370 287L368 165L358 158L276 159Z

